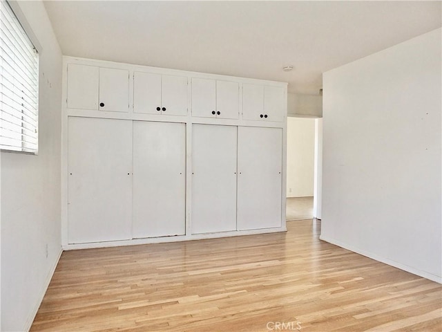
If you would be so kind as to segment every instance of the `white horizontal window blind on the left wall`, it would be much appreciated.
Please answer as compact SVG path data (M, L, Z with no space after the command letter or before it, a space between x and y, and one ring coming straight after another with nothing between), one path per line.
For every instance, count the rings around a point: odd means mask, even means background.
M37 154L39 55L0 1L0 149Z

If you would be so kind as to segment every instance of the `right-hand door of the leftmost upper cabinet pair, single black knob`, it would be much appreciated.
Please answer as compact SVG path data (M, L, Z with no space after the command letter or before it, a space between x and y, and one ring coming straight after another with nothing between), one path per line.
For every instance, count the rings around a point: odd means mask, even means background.
M129 72L122 69L99 68L100 111L127 112L128 108Z

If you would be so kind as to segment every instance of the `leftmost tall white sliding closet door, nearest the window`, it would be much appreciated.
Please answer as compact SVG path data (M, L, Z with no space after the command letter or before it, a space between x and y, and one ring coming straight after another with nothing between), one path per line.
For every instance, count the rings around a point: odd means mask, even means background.
M69 243L131 239L132 122L68 121Z

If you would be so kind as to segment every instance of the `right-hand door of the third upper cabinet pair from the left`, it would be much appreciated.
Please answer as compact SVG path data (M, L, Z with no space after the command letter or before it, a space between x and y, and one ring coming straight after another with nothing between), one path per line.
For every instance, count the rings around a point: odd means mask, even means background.
M238 119L239 84L236 82L216 81L217 118Z

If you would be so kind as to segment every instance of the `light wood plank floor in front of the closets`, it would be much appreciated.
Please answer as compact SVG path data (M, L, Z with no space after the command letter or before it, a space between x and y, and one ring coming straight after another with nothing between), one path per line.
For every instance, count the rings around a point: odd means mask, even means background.
M287 225L64 252L31 331L442 331L440 284Z

